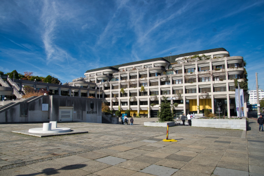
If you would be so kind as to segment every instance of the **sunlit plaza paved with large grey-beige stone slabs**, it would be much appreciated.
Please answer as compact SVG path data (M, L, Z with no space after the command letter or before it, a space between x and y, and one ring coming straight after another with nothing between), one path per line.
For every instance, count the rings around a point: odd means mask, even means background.
M264 175L264 132L256 119L249 131L188 126L145 127L156 118L135 118L133 126L58 123L89 131L52 137L12 133L42 127L0 124L0 175ZM241 138L242 137L242 138Z

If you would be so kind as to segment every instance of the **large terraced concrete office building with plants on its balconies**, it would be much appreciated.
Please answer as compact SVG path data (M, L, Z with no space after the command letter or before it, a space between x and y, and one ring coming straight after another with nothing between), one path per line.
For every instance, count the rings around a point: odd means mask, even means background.
M216 113L218 105L223 115L236 116L234 79L245 78L243 57L224 48L91 69L85 76L80 85L97 83L111 110L147 117L157 117L163 96L178 104L173 107L178 116L206 108Z

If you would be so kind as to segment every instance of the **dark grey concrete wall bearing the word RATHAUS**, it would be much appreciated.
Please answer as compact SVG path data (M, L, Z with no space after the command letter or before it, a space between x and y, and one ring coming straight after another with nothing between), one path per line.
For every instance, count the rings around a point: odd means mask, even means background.
M91 103L94 103L93 109ZM49 105L48 111L42 111L42 104ZM74 107L73 121L102 123L101 100L61 96L40 96L29 102L13 104L0 110L0 123L59 122L59 107ZM88 114L87 111L97 111L97 114Z

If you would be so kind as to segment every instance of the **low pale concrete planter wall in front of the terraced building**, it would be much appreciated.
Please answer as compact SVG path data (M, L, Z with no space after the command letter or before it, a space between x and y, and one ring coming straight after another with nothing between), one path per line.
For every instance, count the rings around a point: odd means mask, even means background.
M246 119L191 119L191 126L246 130Z

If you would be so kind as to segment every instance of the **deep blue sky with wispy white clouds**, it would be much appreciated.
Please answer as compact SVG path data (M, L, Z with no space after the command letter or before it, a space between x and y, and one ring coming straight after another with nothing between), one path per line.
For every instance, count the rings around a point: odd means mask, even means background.
M58 77L223 47L264 89L264 1L1 0L0 70Z

